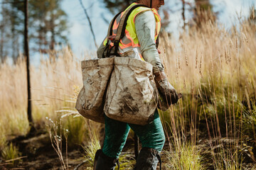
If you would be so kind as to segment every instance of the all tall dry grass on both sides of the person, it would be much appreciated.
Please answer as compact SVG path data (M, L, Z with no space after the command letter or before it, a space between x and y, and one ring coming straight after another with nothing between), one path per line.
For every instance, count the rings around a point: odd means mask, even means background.
M160 45L169 81L183 94L176 106L161 112L169 143L166 167L242 169L245 159L253 160L255 152L248 143L255 140L256 125L255 23L225 30L208 22L178 40L164 33ZM75 91L82 85L80 60L68 47L57 55L51 61L42 58L37 68L31 66L33 118L42 127L46 117L59 120L63 113L75 111ZM1 64L1 147L11 135L28 131L26 100L26 62ZM63 118L69 143L76 138L75 132L97 127L89 121L82 125L82 121ZM79 144L85 137L76 139L74 143Z

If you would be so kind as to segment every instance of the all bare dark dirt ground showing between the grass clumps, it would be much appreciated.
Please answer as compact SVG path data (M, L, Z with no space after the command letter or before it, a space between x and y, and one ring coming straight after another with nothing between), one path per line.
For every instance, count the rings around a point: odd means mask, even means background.
M202 135L203 138L203 135ZM230 145L233 143L232 139L226 139L223 138L222 144L217 145L214 144L214 142L211 142L214 146L214 149L218 148L223 148L225 145ZM255 143L252 143L252 145L255 145ZM33 137L25 138L16 141L16 145L18 145L20 152L22 153L21 159L19 159L17 164L14 166L9 166L8 164L4 164L4 160L0 159L0 170L5 170L5 169L31 169L31 170L45 170L45 169L61 169L61 164L60 160L58 159L58 154L54 151L51 143L50 143L50 138L48 134L46 133L41 133L38 135L35 135ZM65 144L63 144L65 146ZM205 140L199 140L197 145L200 147L203 157L211 157L210 156L210 141L205 139ZM249 145L247 145L249 146ZM131 138L128 138L126 145L124 146L124 152L134 152L134 142L132 141ZM166 145L164 149L168 149L169 145L167 144L166 140ZM250 148L250 147L247 147ZM243 165L243 169L256 169L256 162L254 158L255 154L255 149L243 149L241 148L240 150L243 150L241 152L242 156L245 158L245 164ZM83 158L84 151L81 147L77 147L74 149L68 150L68 169L75 169L79 164L85 161L85 158ZM166 157L164 154L161 155L162 162L165 164L166 162ZM65 157L65 151L63 152L63 159L66 160ZM210 159L206 159L206 162L210 164ZM122 164L121 164L122 166ZM79 167L78 170L82 169L90 169L90 167L87 164L82 164L82 166ZM159 167L158 167L159 169ZM162 167L162 169L165 169ZM208 166L208 169L214 169L211 166Z

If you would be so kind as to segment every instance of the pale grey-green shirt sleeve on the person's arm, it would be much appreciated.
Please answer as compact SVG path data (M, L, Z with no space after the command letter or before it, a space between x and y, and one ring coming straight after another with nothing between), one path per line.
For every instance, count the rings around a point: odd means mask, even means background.
M153 73L164 72L154 40L156 21L152 11L139 13L135 18L135 29L142 51L142 57L153 65Z

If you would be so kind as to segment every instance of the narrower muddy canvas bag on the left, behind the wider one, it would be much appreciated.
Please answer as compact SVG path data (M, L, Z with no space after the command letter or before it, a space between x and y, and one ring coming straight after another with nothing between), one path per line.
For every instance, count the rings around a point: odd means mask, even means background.
M75 108L85 118L104 123L104 96L114 67L114 58L81 62L83 86Z

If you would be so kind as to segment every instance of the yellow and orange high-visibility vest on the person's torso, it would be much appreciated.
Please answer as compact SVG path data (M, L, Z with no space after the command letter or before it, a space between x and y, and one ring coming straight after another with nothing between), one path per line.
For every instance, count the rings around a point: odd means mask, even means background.
M137 4L137 3L133 3L130 6L134 6L135 4ZM122 16L124 15L125 11L120 13L119 16L117 16L116 20L114 21L114 26L112 28L113 35L117 35L117 28L119 26L119 22L120 22ZM125 48L128 48L128 47L129 48L130 47L140 47L139 40L138 40L137 33L136 33L136 29L135 29L135 17L139 13L142 13L143 11L152 11L154 13L154 17L155 17L155 21L156 21L156 30L155 30L155 41L156 41L156 39L159 35L159 32L160 32L160 28L161 28L161 17L159 16L159 13L156 11L155 8L146 8L144 6L140 6L138 8L135 8L128 17L127 26L126 26L126 29L125 29L125 32L124 32L124 37L119 42L119 47L122 50L125 50ZM107 45L107 38L104 41L104 45ZM109 45L113 46L114 43L111 42L111 40L110 40Z

